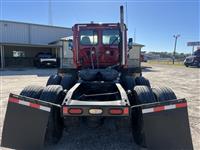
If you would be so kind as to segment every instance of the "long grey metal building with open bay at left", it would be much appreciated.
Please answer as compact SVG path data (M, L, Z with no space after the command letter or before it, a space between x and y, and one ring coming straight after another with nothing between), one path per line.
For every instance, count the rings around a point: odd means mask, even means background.
M59 57L60 45L49 43L71 35L71 28L0 20L1 69L32 67L39 52Z

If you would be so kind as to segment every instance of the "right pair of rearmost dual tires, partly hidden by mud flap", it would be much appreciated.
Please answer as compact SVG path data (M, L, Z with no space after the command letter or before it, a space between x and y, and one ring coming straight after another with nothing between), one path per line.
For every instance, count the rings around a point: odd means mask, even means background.
M148 86L135 86L133 90L134 105L163 102L176 99L174 92L167 87L150 88ZM143 114L141 107L135 107L132 113L132 131L135 142L146 147Z

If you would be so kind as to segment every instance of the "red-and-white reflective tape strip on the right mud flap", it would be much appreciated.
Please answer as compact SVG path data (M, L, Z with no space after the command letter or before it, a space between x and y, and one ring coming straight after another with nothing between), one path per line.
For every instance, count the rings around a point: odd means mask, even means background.
M183 108L183 107L187 107L187 103L178 103L178 104L173 104L173 105L145 108L145 109L142 109L142 113L145 114L145 113L152 113L152 112L160 112L160 111L176 109L176 108Z

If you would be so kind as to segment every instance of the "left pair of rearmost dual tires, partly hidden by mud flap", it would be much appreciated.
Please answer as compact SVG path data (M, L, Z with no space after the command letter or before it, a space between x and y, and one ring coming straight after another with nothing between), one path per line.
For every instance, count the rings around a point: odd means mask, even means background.
M54 104L61 104L64 99L63 88L60 85L27 86L20 95ZM45 145L56 144L62 137L62 131L63 119L60 115L60 108L52 105L45 133Z

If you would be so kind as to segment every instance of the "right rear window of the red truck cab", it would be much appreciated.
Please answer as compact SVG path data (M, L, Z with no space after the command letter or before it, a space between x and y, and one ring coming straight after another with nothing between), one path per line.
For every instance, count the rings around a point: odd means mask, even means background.
M120 41L119 30L109 29L103 30L102 33L103 44L118 45Z

